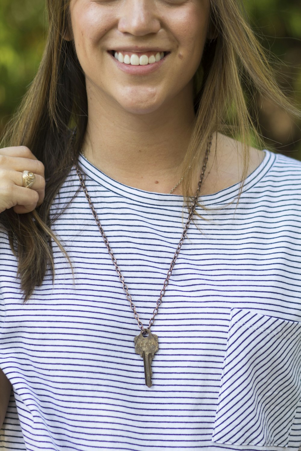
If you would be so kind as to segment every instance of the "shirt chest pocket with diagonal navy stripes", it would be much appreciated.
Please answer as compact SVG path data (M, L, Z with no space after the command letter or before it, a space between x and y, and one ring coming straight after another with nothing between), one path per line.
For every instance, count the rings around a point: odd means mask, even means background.
M301 399L301 322L232 308L213 442L288 446Z

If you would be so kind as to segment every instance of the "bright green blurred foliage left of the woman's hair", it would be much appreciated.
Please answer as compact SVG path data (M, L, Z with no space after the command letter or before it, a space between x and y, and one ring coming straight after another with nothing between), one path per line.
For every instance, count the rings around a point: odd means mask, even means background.
M41 0L1 0L0 131L37 71L45 37L46 16Z

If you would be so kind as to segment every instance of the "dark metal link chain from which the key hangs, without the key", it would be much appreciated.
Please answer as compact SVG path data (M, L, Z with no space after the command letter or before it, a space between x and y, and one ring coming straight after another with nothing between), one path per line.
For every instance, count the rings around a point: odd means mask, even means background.
M149 320L148 329L150 329L151 326L153 326L153 323L154 323L154 321L155 321L155 317L156 317L156 315L157 315L157 313L158 313L159 307L160 307L160 305L162 304L162 297L163 297L164 294L165 294L165 291L166 291L166 288L167 288L167 285L168 285L168 281L169 281L169 279L170 279L170 277L171 277L171 273L172 273L173 267L175 266L176 259L178 258L178 255L179 255L179 253L180 253L182 244L183 244L184 239L185 239L185 237L186 237L186 235L187 235L187 230L188 230L188 228L189 228L189 226L190 226L190 222L191 222L192 217L193 217L193 215L194 215L195 206L196 206L196 203L198 202L198 198L199 198L199 191L200 191L201 186L202 186L202 183L203 183L204 174L205 174L205 170L206 170L207 163L208 163L208 156L209 156L209 152L210 152L210 148L211 148L211 142L212 142L212 136L210 137L210 140L209 140L209 142L208 142L208 146L207 146L207 148L206 148L206 153L205 153L205 157L204 157L204 162L203 162L202 172L201 172L200 179L199 179L198 189L197 189L197 191L196 191L196 193L195 193L194 200L193 200L193 202L192 202L192 204L191 204L191 207L190 207L190 210L189 210L189 214L188 214L188 219L187 219L186 225L185 225L185 227L184 227L184 230L183 230L181 239L180 239L180 241L179 241L178 247L177 247L176 252L175 252L175 254L174 254L174 256L173 256L173 258L172 258L172 260L171 260L171 265L170 265L169 270L168 270L168 272L167 272L167 277L166 277L166 279L165 279L165 281L164 281L163 288L162 288L162 290L160 291L160 296L159 296L159 298L158 298L158 300L157 300L156 307L153 309L153 316L152 316L152 318ZM135 320L136 320L137 323L138 323L139 329L141 329L141 331L144 332L144 326L143 326L142 322L140 321L140 318L139 318L138 313L136 312L136 307L135 307L135 305L134 305L134 303L133 303L133 299L132 299L132 297L131 297L131 295L130 295L130 293L129 293L128 287L127 287L127 285L125 284L125 279L124 279L124 277L123 277L122 274L121 274L120 267L117 265L117 260L116 260L114 254L113 254L113 251L112 251L112 249L111 249L111 247L110 247L110 244L109 244L109 242L108 242L108 240L107 240L106 234L105 234L105 232L104 232L104 230L103 230L103 228L102 228L102 225L101 225L101 223L100 223L100 221L99 221L99 219L98 219L97 213L96 213L96 211L95 211L95 209L94 209L93 203L92 203L91 198L90 198L90 196L89 196L89 194L88 194L88 190L87 190L87 188L86 188L86 186L85 186L85 184L84 184L83 177L82 177L82 174L81 174L81 172L80 172L80 170L79 170L79 167L78 167L75 163L74 163L74 168L75 168L75 170L76 170L76 174L77 174L78 177L79 177L79 183L81 184L81 187L82 187L82 189L83 189L83 192L84 192L84 194L85 194L85 196L86 196L86 199L87 199L87 201L88 201L88 203L89 203L89 207L90 207L91 210L92 210L92 214L93 214L93 217L94 217L95 222L96 222L96 224L97 224L97 227L98 227L98 229L99 229L99 231L100 231L100 233L101 233L101 235L102 235L102 238L103 238L103 240L104 240L104 242L105 242L105 244L106 244L106 246L107 246L107 250L108 250L108 252L109 252L109 254L110 254L110 257L111 257L111 259L112 259L112 262L114 263L114 266L115 266L116 272L117 272L117 274L118 274L119 280L120 280L120 282L121 282L121 284L122 284L122 287L123 287L123 289L124 289L124 291L125 291L126 299L130 302L130 308L133 310L134 318L135 318ZM180 180L180 182L178 183L178 185L181 183L181 181L182 181L182 179ZM178 186L178 185L176 185L176 186ZM176 188L176 186L175 186L175 188ZM175 189L175 188L174 188L174 189Z

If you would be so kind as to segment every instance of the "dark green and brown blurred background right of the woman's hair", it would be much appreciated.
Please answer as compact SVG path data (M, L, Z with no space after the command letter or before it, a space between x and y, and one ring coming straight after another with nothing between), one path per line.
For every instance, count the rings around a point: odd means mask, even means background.
M301 4L300 0L245 0L250 21L267 49L278 83L301 109ZM262 106L259 129L267 146L301 160L301 123L271 102ZM256 115L254 114L254 119Z

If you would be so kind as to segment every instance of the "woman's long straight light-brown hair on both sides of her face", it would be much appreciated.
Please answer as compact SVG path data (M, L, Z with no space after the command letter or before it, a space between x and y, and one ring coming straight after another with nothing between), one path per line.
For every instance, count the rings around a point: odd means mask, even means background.
M54 278L52 240L65 252L51 230L57 218L50 217L51 204L72 167L73 158L79 156L88 120L85 77L74 43L64 40L69 1L46 0L46 7L49 31L42 61L1 145L27 146L45 166L47 182L42 205L27 214L18 215L13 209L0 214L0 224L18 258L24 302L35 286L42 284L47 271ZM242 182L247 174L250 130L259 141L260 138L245 102L246 82L300 117L278 88L264 50L245 19L241 1L211 0L211 26L216 30L216 38L206 43L195 75L195 126L182 167L183 194L188 204L191 162L199 160L213 132L231 130L240 138L245 149ZM71 132L74 129L75 135ZM65 256L68 258L66 253Z

